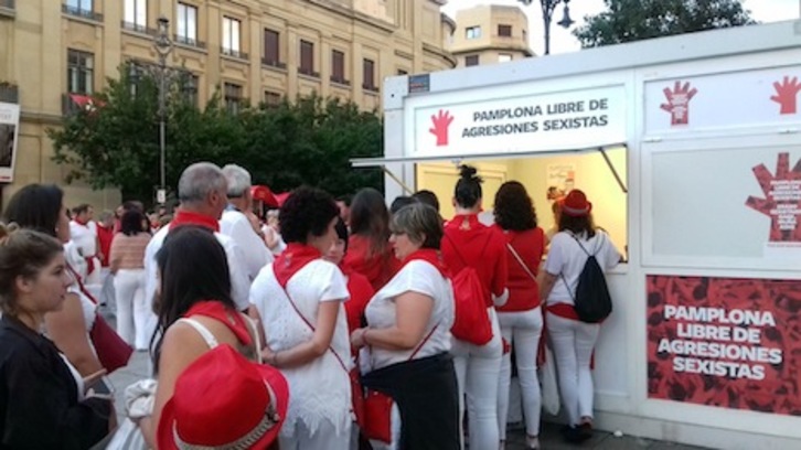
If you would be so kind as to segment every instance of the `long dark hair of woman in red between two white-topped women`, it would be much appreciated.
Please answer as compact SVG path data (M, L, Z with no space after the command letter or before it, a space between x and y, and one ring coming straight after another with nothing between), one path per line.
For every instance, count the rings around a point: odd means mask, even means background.
M373 188L356 193L351 203L351 235L370 239L370 255L381 255L389 239L389 211L384 195Z

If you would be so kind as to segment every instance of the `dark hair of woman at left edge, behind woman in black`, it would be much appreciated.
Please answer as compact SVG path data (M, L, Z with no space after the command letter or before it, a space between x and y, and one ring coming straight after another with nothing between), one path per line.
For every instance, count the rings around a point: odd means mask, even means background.
M55 184L29 184L11 197L3 221L55 237L63 203L64 191Z

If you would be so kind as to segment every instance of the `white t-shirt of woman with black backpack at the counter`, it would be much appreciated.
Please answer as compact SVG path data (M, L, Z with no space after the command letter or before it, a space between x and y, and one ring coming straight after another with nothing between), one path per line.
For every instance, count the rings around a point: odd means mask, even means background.
M606 233L600 229L596 231L595 236L590 239L586 235L578 236L584 248L595 255L598 265L604 271L611 269L620 262L620 253L609 239ZM554 288L547 299L547 304L568 303L574 304L573 297L576 294L578 287L578 277L584 270L587 262L587 254L581 249L573 234L569 232L559 232L551 239L551 249L548 258L545 260L545 271L556 277ZM564 279L562 277L565 277ZM565 286L565 280L569 286L569 291Z

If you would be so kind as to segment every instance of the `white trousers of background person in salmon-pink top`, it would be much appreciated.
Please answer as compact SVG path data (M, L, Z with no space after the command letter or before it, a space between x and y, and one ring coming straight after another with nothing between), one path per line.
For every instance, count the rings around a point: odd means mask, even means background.
M145 269L119 269L114 277L117 300L117 333L137 350L148 347L146 322L150 306L145 301Z

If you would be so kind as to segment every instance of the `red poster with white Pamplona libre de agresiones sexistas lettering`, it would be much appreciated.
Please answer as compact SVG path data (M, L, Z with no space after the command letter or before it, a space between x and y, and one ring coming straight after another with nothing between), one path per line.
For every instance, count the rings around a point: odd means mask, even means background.
M801 416L801 280L647 285L650 398Z

